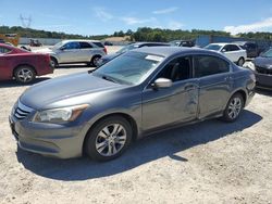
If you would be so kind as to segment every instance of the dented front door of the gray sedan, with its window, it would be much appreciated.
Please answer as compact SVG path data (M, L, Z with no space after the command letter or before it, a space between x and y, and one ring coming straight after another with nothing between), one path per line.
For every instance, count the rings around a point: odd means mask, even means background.
M154 77L151 84L158 78L168 78L173 85L153 89L150 84L143 91L144 130L196 118L198 79L191 76L191 58L181 56L169 62Z

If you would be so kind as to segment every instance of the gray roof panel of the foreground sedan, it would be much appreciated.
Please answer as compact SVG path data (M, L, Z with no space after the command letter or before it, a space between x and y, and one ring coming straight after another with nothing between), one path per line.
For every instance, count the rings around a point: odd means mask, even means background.
M139 48L136 50L133 50L132 52L144 52L148 54L153 54L153 55L161 55L161 56L171 56L174 54L182 54L182 53L212 53L214 54L213 51L207 50L207 49L201 49L201 48L186 48L186 47L144 47Z

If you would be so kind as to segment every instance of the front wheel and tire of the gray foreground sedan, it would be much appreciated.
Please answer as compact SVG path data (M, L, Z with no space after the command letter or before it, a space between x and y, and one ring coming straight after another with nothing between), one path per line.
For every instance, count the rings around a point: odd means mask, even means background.
M100 120L87 135L85 152L95 161L111 161L119 157L131 144L132 126L121 116Z

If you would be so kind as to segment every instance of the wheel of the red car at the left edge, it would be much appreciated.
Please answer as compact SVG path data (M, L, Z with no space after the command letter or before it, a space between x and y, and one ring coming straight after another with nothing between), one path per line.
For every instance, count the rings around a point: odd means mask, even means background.
M17 82L28 84L35 79L36 73L33 67L24 65L15 69L14 77Z

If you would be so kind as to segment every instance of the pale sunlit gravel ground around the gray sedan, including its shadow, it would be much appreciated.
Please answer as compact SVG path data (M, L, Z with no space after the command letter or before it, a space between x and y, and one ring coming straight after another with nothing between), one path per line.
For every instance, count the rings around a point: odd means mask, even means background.
M87 69L65 66L36 82ZM8 116L27 87L0 82L0 203L272 202L272 92L259 91L234 124L212 119L156 133L96 163L17 149Z

